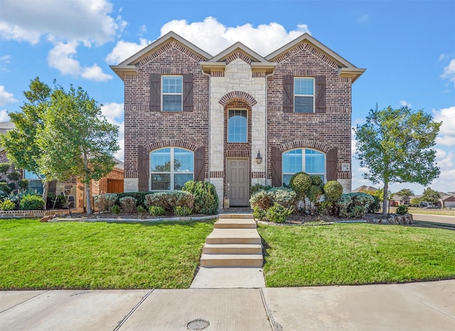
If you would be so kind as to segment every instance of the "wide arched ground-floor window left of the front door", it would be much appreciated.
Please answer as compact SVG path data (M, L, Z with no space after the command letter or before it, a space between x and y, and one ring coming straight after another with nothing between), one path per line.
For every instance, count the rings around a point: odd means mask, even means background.
M194 153L188 149L166 147L150 153L151 191L182 189L193 176Z

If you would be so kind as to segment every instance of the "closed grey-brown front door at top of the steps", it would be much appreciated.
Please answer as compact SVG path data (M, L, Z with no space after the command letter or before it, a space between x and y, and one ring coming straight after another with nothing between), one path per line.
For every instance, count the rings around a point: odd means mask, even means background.
M230 206L250 205L250 177L248 159L228 159L226 164L226 190Z

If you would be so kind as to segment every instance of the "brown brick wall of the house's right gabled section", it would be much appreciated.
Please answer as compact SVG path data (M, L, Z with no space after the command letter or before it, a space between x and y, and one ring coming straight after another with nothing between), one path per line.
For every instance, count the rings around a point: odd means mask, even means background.
M285 150L311 147L327 152L338 149L338 178L350 179L341 164L350 164L351 80L338 77L338 65L308 43L301 43L273 61L274 75L267 80L268 178L272 171L272 147ZM294 114L283 112L283 76L326 76L326 113Z

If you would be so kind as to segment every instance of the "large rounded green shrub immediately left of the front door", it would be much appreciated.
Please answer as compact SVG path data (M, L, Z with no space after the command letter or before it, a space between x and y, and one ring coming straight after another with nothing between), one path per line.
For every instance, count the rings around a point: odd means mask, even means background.
M215 215L218 213L218 194L212 183L188 181L183 185L182 190L193 194L193 211L196 214Z

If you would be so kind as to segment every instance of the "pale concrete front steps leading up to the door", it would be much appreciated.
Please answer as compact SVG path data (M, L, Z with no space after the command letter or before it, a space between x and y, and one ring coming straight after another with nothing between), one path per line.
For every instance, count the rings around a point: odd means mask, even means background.
M204 268L261 268L262 244L251 214L220 214L205 240Z

